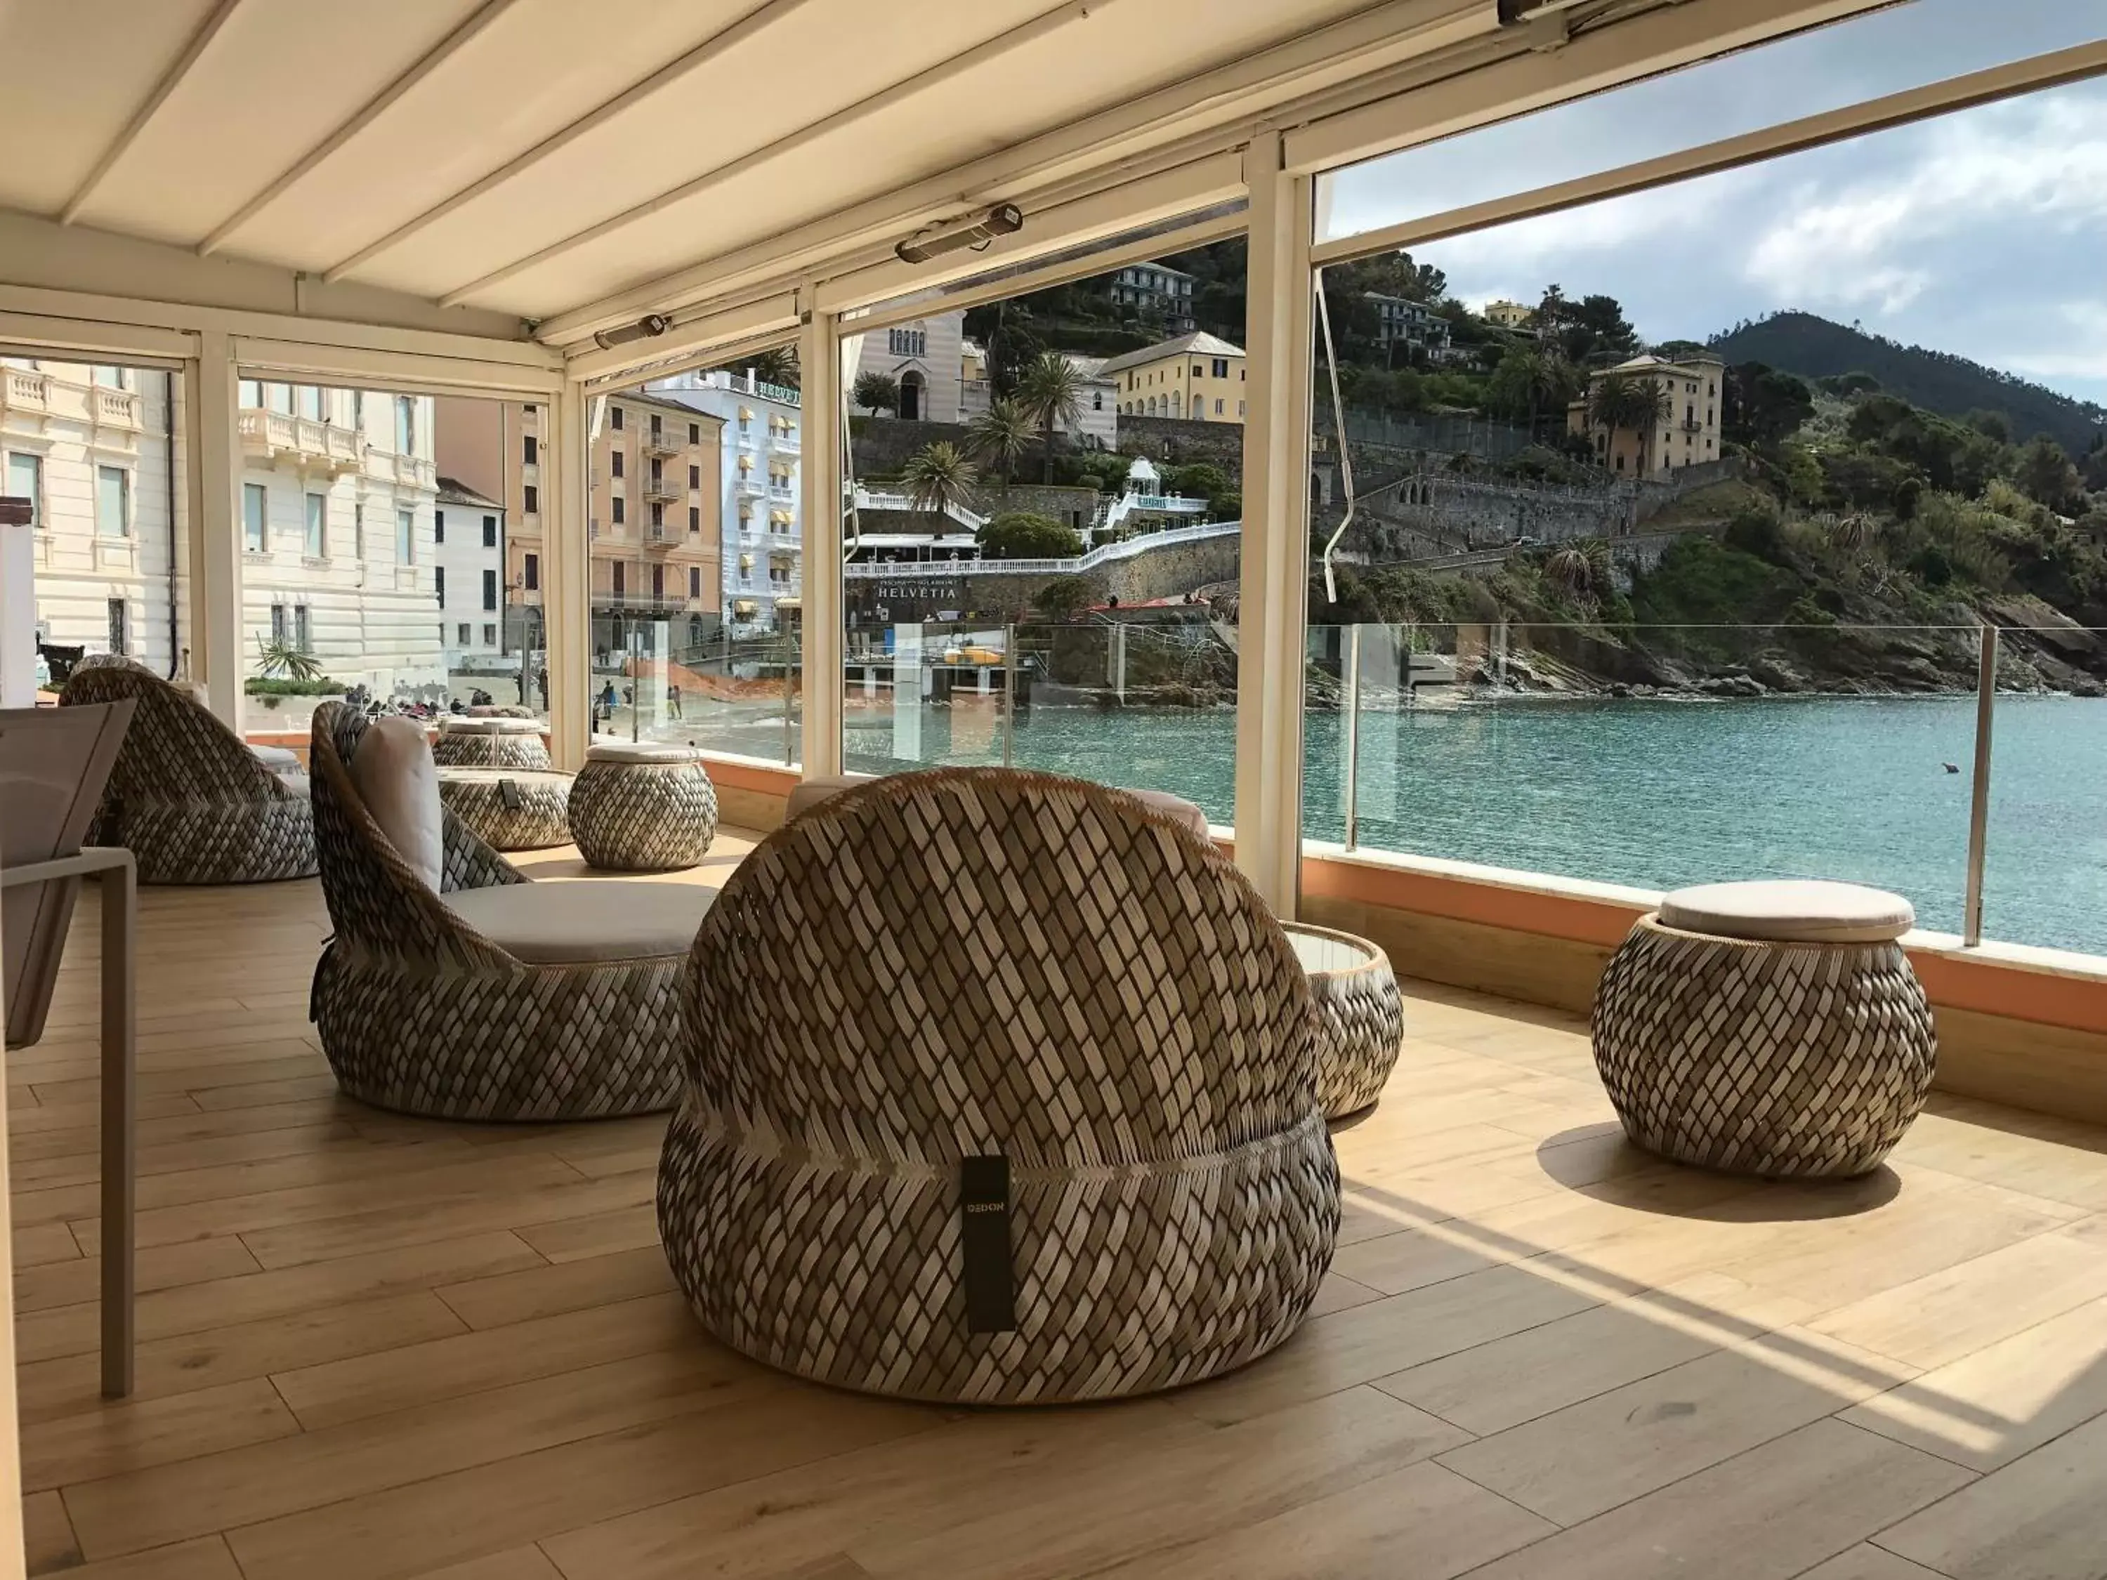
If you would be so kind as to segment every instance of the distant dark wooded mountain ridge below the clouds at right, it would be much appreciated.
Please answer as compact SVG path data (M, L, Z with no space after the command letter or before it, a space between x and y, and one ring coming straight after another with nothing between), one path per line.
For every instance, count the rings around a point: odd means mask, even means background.
M1879 388L1941 417L1972 411L2004 413L2014 438L2050 434L2071 455L2084 455L2107 419L2107 409L2046 390L2040 383L1970 362L1951 352L1898 345L1810 312L1780 312L1726 335L1711 348L1728 362L1766 362L1804 379L1869 373Z

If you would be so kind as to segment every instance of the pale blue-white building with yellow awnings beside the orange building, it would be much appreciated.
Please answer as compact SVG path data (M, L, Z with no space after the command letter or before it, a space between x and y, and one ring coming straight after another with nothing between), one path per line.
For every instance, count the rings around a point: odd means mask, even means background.
M796 390L746 373L681 373L647 386L723 417L723 611L735 636L782 630L803 609L803 409Z

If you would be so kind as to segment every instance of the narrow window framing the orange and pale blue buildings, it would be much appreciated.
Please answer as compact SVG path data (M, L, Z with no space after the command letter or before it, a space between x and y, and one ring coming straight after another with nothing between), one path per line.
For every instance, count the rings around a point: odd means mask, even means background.
M594 729L801 758L803 407L792 348L600 396Z

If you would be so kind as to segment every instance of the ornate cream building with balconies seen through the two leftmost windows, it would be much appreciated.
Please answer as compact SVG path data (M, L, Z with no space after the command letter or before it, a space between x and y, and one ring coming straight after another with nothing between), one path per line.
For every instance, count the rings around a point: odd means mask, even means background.
M0 373L0 493L36 510L38 638L122 651L160 674L181 670L190 640L173 383L27 358ZM238 430L249 672L263 638L284 638L381 695L445 683L432 400L244 379Z

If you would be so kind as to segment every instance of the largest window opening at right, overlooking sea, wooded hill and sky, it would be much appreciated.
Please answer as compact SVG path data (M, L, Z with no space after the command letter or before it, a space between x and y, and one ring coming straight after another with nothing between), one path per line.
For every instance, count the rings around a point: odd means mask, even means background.
M1348 230L1469 206L1660 152L1631 139L1675 95L1734 131L2073 42L2069 13L1922 0L1456 137L1338 177L1332 234L1348 190L1393 183ZM1890 34L1922 48L1850 42ZM1327 261L1308 838L1850 878L1962 933L1989 626L1983 931L2107 952L2103 249L2080 80Z

